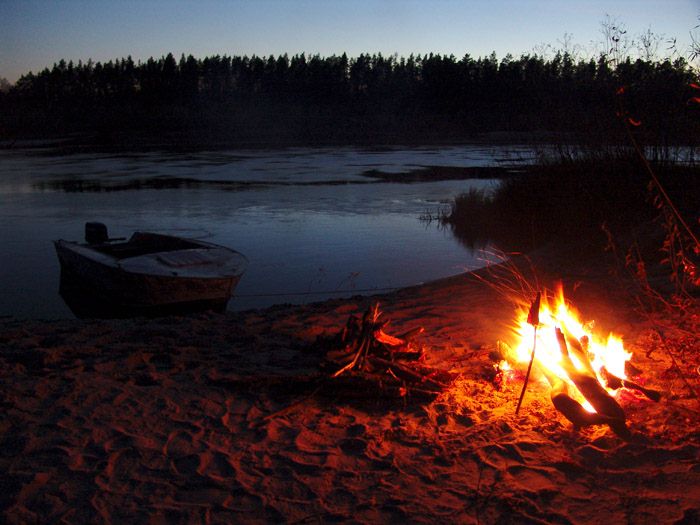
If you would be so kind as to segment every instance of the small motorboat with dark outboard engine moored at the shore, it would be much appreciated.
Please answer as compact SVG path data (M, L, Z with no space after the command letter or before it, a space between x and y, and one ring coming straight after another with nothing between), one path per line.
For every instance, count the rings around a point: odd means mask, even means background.
M79 317L223 311L248 263L197 239L149 232L109 239L101 223L85 231L86 243L54 241L61 295Z

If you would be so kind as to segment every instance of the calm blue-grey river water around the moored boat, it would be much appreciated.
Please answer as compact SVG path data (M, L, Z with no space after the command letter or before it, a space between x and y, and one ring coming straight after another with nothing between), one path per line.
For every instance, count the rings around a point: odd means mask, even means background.
M403 287L483 265L419 216L488 180L383 183L371 169L493 166L524 147L282 149L55 156L0 151L0 316L72 317L58 295L54 239L150 230L206 239L250 265L230 310ZM155 187L154 187L155 186Z

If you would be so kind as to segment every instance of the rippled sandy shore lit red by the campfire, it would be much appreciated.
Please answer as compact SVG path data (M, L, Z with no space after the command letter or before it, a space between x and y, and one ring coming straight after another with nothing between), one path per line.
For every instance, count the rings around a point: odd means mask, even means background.
M489 269L377 297L119 321L0 322L7 523L700 522L700 348L603 265L532 264L633 352L631 438L491 381L513 305ZM595 270L591 270L595 268ZM319 387L318 338L374 301L416 326L434 399ZM676 365L673 360L675 359ZM356 395L352 395L356 394Z

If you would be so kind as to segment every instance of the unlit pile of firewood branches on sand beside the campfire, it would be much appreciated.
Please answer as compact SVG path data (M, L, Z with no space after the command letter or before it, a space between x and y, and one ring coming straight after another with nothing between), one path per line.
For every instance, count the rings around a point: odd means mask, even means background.
M454 374L427 366L423 348L414 338L418 327L399 336L386 333L388 320L379 305L370 306L360 318L350 316L335 336L321 342L325 350L323 368L329 379L375 386L384 395L399 397L435 396L455 379Z

